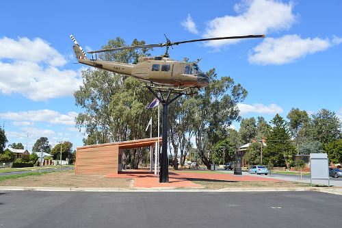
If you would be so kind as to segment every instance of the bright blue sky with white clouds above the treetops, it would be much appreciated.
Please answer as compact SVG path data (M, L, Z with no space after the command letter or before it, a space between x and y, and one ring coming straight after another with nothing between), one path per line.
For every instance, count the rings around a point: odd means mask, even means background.
M73 91L81 85L73 34L83 49L120 36L147 43L265 34L265 39L179 45L174 59L202 58L248 90L241 116L286 116L321 108L342 119L342 2L335 1L1 1L0 124L8 140L82 144ZM163 53L155 49L153 55ZM146 101L149 103L150 101ZM234 123L238 128L239 123ZM27 137L28 136L28 137Z

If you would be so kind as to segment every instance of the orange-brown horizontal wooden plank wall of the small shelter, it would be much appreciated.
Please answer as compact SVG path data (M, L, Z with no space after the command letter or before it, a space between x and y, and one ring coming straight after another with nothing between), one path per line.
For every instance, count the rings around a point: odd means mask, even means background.
M77 149L76 174L118 173L118 144Z

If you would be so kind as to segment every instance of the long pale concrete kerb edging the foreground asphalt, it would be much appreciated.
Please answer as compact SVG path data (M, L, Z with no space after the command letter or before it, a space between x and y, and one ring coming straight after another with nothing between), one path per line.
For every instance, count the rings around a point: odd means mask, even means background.
M57 187L21 187L0 186L0 191L47 191L47 192L298 192L316 191L342 195L342 188L221 188L217 190L207 188L57 188Z

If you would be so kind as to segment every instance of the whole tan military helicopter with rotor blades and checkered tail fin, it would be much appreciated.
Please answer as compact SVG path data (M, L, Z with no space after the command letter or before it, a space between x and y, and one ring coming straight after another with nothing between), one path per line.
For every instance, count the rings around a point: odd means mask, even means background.
M165 34L164 34L165 35ZM168 50L174 45L181 45L188 42L201 42L209 40L231 40L243 38L263 38L265 35L248 35L248 36L227 36L216 38L203 38L198 40L185 40L180 42L171 42L166 37L165 43L154 45L135 45L125 47L114 47L111 49L101 49L97 51L88 51L88 53L96 55L96 58L88 60L86 53L79 46L73 35L70 38L75 43L73 49L77 60L81 64L94 66L114 73L128 75L152 84L155 88L172 88L173 90L187 90L189 88L202 88L209 84L209 78L205 73L200 71L198 61L188 62L187 58L183 61L170 59ZM161 56L155 57L140 57L137 64L127 64L122 62L109 62L97 60L97 53L105 51L120 51L127 49L141 49L153 47L166 47L166 52ZM158 87L162 86L162 87Z

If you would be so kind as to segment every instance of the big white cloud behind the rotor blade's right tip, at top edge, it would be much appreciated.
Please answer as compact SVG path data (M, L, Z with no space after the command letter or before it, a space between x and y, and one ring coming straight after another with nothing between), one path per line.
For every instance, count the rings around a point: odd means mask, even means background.
M295 22L292 3L276 0L241 1L234 6L237 16L214 18L207 24L204 37L241 36L268 34L270 31L289 29ZM239 40L215 40L208 42L211 47L239 42Z

